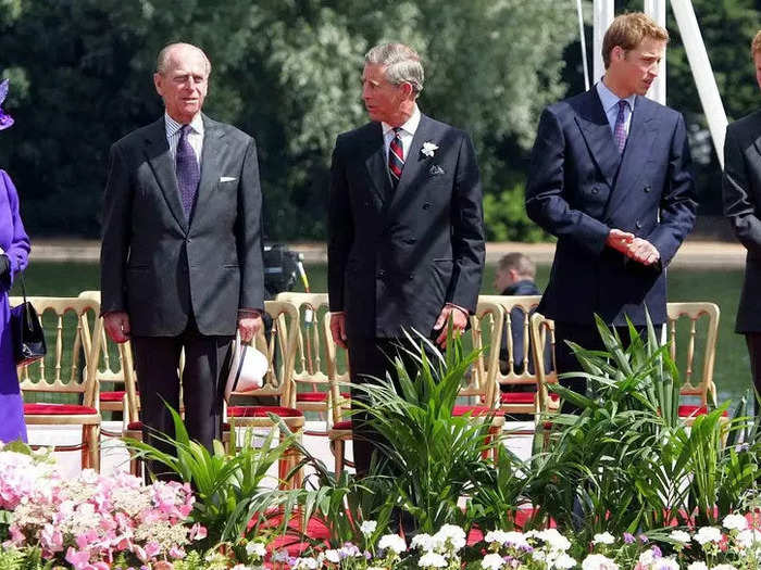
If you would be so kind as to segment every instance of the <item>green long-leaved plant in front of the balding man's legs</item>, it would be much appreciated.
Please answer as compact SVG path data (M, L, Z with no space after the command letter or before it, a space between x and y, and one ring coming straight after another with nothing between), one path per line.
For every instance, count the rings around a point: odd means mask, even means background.
M199 548L210 548L222 542L237 543L246 533L251 518L266 510L263 498L271 490L262 484L270 467L275 465L296 440L294 434L280 436L271 430L261 447L254 447L253 432L247 430L242 442L237 442L230 430L230 448L227 453L221 442L214 441L214 453L191 441L179 414L170 408L174 420L175 439L158 434L171 443L175 455L164 453L147 443L129 440L128 446L144 459L159 461L183 481L192 484L196 504L191 518L207 528L207 539ZM237 448L236 448L237 447Z

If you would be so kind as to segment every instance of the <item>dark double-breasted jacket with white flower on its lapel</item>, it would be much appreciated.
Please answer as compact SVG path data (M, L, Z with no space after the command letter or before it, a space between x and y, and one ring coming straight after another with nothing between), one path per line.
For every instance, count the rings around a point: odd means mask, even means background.
M434 156L424 142L438 145ZM330 311L349 337L429 334L446 303L475 311L484 266L482 190L463 131L421 116L396 190L379 123L336 140L328 208Z

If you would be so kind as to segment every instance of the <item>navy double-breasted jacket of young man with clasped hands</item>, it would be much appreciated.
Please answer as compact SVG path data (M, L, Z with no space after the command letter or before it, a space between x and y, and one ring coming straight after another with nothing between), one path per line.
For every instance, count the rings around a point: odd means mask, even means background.
M666 320L664 268L695 223L695 188L682 115L637 97L623 156L597 88L545 110L526 185L528 216L558 237L538 311L559 321ZM606 246L612 228L647 239L652 267Z

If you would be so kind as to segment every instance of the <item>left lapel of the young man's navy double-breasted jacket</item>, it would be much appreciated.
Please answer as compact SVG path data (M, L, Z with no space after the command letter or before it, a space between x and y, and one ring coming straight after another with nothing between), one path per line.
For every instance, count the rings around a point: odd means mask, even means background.
M619 170L619 164L621 163L621 155L619 154L619 149L615 148L610 123L608 123L608 117L597 94L597 88L592 87L586 94L587 97L584 99L575 117L576 123L582 130L595 164L602 173L608 186L613 188L615 173Z

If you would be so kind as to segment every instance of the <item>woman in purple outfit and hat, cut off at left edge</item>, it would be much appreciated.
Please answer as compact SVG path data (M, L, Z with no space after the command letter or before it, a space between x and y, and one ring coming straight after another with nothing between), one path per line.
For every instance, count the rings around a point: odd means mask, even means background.
M0 105L8 94L8 79L0 83ZM13 119L0 107L0 130L13 125ZM0 169L0 441L26 441L24 402L18 390L18 377L13 358L11 309L8 293L13 278L26 267L29 238L18 214L18 194L5 170Z

